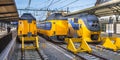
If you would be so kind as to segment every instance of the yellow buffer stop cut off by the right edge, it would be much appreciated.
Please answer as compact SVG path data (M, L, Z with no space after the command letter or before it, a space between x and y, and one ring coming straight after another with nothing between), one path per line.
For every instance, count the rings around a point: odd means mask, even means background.
M118 37L103 37L104 48L112 49L113 51L117 51L120 49L120 38Z

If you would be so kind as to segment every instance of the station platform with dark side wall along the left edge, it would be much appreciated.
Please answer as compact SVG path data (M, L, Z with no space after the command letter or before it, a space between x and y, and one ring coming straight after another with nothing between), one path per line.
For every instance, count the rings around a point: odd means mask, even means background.
M0 60L12 60L12 54L16 45L17 31L11 29L10 33L7 31L0 32Z

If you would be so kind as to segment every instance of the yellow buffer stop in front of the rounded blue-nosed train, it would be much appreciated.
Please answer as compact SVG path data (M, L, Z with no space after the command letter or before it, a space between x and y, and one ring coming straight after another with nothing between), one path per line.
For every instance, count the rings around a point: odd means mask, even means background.
M67 43L67 49L73 52L74 54L79 52L92 52L92 49L89 47L85 39L80 38L65 38L65 42ZM75 46L74 43L80 43L78 47Z

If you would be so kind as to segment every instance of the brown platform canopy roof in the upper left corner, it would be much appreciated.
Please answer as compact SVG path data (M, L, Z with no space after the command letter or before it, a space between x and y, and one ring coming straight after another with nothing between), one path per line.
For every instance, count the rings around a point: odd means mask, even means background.
M0 0L0 21L17 21L18 17L14 0Z

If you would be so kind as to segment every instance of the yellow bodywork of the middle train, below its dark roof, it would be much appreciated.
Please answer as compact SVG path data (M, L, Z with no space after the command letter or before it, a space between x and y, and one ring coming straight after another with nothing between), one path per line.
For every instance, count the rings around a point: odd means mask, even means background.
M39 28L38 32L46 36L66 36L68 33L68 21L67 20L48 20L41 23L51 23L50 29ZM41 24L40 23L40 24ZM45 27L45 26L44 26Z

